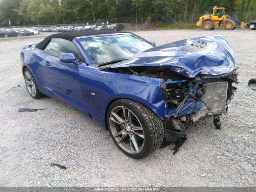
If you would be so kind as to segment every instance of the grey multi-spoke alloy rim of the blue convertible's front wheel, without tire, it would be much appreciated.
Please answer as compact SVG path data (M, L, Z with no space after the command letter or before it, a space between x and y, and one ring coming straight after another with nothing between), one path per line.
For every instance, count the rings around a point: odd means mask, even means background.
M145 143L145 134L137 116L124 106L112 109L109 117L110 131L116 143L130 154L138 154Z

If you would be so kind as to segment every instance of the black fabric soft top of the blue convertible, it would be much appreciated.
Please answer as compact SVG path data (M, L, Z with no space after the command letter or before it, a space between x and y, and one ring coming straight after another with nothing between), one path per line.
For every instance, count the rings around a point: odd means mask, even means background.
M101 35L101 34L113 34L113 33L127 33L124 31L74 31L74 32L64 32L64 33L56 33L46 37L44 40L36 44L36 48L44 50L44 48L48 45L48 43L52 40L52 38L61 38L72 41L76 37L90 36L90 35Z

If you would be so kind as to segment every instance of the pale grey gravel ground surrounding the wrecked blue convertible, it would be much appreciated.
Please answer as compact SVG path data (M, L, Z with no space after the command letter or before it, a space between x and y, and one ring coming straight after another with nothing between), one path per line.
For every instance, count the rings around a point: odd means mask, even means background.
M107 131L80 112L49 97L30 97L20 49L44 34L0 40L0 186L256 186L256 92L247 86L256 77L255 32L135 32L157 45L221 34L234 49L240 81L221 130L212 119L201 120L188 128L175 156L167 146L143 160L123 154ZM18 112L20 107L46 109Z

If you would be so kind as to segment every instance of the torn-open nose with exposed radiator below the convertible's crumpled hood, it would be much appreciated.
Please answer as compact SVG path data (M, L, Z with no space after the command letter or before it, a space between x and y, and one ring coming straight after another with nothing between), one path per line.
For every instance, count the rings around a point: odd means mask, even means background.
M213 117L215 128L220 129L220 116L228 111L236 90L232 85L237 83L236 76L233 71L221 77L201 76L185 82L164 82L162 90L170 109L165 120L164 145L176 143L175 154L186 141L184 130L202 118Z

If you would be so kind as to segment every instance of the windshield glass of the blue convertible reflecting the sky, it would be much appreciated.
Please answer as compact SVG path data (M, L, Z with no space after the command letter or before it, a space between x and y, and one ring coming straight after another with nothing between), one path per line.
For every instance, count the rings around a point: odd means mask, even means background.
M80 42L96 66L131 58L153 45L135 34L88 37Z

